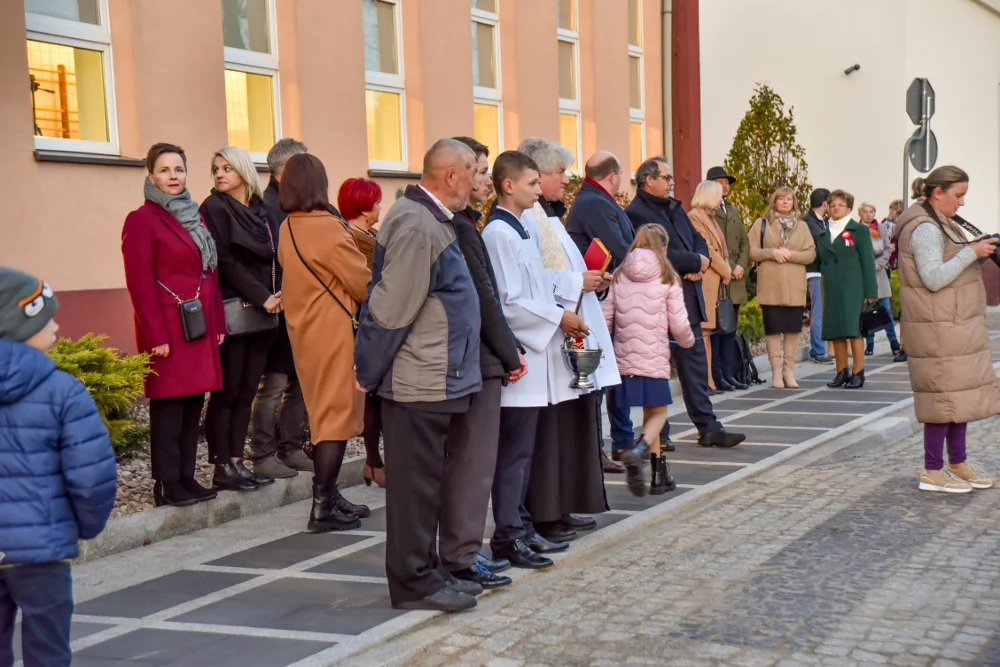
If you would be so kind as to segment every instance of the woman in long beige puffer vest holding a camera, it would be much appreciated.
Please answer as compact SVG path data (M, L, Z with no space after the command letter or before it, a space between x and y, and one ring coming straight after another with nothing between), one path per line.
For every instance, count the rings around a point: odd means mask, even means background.
M896 221L913 407L924 425L919 488L969 493L993 486L966 461L965 431L967 422L1000 414L980 267L997 240L968 243L955 222L969 190L964 171L938 167L923 186L925 200Z

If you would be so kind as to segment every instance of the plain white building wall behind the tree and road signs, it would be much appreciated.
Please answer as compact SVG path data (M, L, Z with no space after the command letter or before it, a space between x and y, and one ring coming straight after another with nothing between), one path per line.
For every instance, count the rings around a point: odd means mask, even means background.
M813 185L870 200L882 217L902 195L906 89L927 77L937 165L969 172L963 216L1000 230L1000 1L700 0L700 23L706 169L767 82L795 108Z

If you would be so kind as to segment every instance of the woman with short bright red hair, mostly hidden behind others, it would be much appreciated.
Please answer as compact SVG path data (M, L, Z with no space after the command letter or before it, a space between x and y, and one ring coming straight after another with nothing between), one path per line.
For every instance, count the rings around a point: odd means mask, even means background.
M375 181L367 178L349 178L340 186L337 193L337 208L347 220L358 250L368 260L368 268L372 268L372 254L375 252L376 224L382 212L382 188ZM378 451L379 437L382 433L382 404L374 392L365 397L365 467L362 472L365 484L371 486L374 481L385 488L385 467Z

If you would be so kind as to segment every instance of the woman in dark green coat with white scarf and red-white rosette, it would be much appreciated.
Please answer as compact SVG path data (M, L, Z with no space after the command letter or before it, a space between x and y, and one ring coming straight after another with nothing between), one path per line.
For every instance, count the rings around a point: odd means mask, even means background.
M865 345L861 338L861 311L865 302L877 301L875 254L871 231L851 218L854 197L834 190L830 208L830 242L817 248L823 274L823 340L833 341L837 376L828 387L860 389L865 384ZM847 369L847 343L851 344L854 372Z

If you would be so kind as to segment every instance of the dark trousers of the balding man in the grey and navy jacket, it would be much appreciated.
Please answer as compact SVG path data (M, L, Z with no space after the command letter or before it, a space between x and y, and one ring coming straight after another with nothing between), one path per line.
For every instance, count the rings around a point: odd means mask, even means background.
M430 407L431 409L427 409ZM432 412L382 401L385 440L385 573L393 603L420 600L444 586L437 531L445 457L467 442L464 412ZM465 440L463 440L465 438Z

